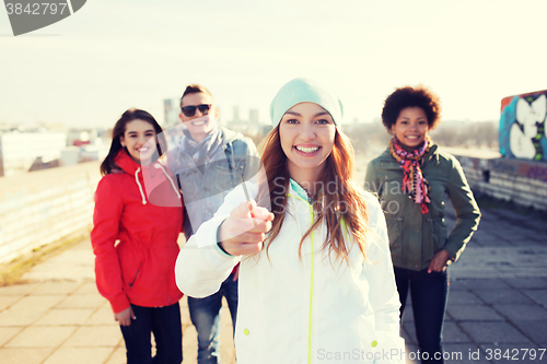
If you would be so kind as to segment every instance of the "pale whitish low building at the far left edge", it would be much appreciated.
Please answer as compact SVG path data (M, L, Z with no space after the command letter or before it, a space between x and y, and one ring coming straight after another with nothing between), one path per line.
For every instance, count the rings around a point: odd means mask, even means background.
M67 132L4 132L0 134L0 176L36 169L61 156ZM36 162L36 163L35 163Z

